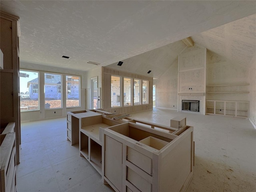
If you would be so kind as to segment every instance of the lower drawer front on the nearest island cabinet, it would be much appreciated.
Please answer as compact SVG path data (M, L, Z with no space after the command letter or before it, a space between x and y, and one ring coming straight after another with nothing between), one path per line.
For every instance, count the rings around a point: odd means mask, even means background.
M127 180L142 192L151 192L152 190L151 183L147 182L129 167L127 168Z

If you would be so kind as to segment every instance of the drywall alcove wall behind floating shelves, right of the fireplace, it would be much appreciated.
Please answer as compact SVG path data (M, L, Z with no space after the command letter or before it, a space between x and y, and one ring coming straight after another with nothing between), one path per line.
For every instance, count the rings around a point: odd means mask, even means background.
M236 64L208 50L206 66L206 85L249 83L249 68ZM207 87L207 92L249 91L249 86ZM207 94L206 100L249 101L248 93Z

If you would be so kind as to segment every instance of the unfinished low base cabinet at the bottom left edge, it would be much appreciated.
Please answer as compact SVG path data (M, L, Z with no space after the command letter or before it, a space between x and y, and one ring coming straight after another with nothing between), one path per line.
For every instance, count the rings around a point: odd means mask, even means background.
M0 191L16 192L15 123L9 123L0 134Z

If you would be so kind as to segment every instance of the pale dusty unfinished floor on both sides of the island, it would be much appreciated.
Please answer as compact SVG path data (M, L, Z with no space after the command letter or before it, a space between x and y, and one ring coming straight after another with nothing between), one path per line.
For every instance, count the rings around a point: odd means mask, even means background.
M194 126L194 176L186 192L256 192L256 130L249 120L172 110L137 112L132 118L170 126L187 117ZM112 192L66 140L66 118L22 123L18 192ZM170 192L172 190L170 189Z

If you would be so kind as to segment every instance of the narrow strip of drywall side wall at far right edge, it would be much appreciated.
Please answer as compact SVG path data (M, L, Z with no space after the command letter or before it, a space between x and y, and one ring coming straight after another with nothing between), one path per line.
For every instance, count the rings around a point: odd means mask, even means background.
M256 129L256 56L252 59L252 67L250 68L249 73L249 82L250 82L250 116L249 120L252 122L252 125Z

